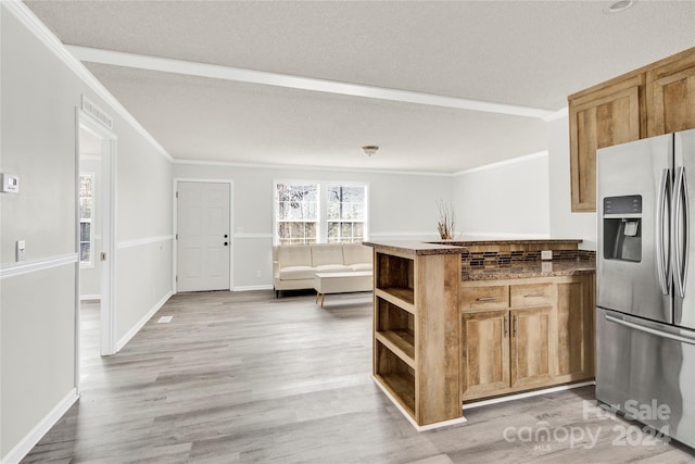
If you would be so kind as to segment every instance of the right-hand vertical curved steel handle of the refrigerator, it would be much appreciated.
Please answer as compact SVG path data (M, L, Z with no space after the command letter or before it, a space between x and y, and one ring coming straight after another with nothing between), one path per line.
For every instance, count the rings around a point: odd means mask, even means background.
M687 247L690 233L690 208L687 201L687 181L685 180L685 167L679 166L675 172L675 208L673 211L673 253L672 266L675 274L675 293L679 298L685 297L685 279L687 274ZM683 205L685 203L685 205ZM683 243L684 242L684 243Z

